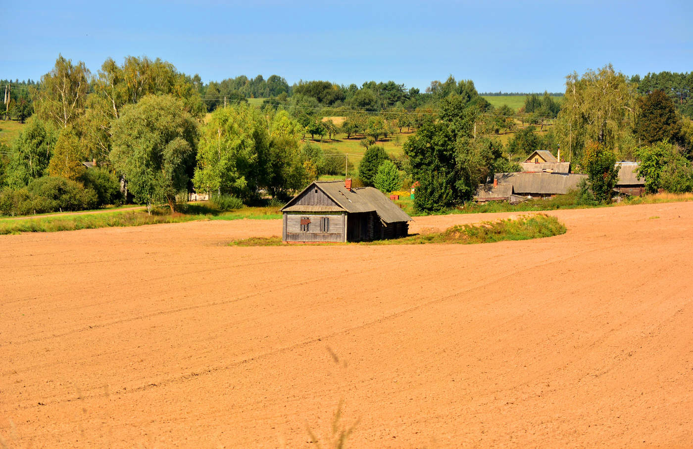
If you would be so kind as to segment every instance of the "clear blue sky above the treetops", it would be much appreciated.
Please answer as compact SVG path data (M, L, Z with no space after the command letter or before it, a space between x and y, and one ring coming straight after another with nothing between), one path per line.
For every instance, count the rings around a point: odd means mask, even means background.
M37 80L59 53L160 57L202 80L339 84L471 79L478 91L563 91L611 63L693 71L693 1L3 2L0 78Z

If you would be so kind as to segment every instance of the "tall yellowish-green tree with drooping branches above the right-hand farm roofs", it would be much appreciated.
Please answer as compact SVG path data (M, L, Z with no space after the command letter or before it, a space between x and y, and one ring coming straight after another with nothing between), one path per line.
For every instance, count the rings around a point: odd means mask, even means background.
M565 95L556 120L561 146L577 155L589 141L617 148L633 128L637 86L611 64L588 70L582 77L575 72L565 78Z

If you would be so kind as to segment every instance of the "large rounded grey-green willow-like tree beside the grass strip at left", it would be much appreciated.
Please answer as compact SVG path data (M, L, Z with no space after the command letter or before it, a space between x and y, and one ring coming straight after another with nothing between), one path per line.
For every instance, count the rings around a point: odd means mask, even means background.
M111 162L128 182L135 201L151 213L155 203L173 212L185 191L198 143L198 124L172 95L146 95L123 107L113 124Z

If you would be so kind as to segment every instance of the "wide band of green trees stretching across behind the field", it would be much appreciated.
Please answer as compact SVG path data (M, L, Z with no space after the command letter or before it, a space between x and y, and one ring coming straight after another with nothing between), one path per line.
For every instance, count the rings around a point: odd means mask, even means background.
M210 108L209 86L238 92L239 98ZM637 82L611 66L569 75L560 104L548 93L527 95L520 111L491 107L471 80L452 75L431 82L424 93L394 82L288 86L276 75L205 85L198 75L146 57L128 57L122 64L109 58L91 73L83 62L60 56L40 82L26 87L35 117L12 145L0 147L4 214L128 199L150 207L166 203L173 210L192 190L245 203L263 196L283 201L322 174L353 170L344 167L342 154L306 142L307 135L314 140L337 133L358 136L367 148L359 169L362 183L377 181L387 189L400 186L403 178L416 181L414 205L421 211L468 201L478 183L518 169L511 160L534 149L556 154L559 146L588 171L609 165L595 165L594 158L644 161L652 145L660 152L669 145L667 161L681 167L674 175L684 186L677 188L685 190L693 140L690 121L682 120L669 93L640 95ZM256 93L270 95L260 108L245 101L245 95ZM334 116L343 119L340 126ZM543 136L530 126L519 129L508 145L495 138L516 129L518 120L543 127L552 118L556 126ZM416 134L404 144L402 158L390 158L377 143L404 127ZM85 161L96 168L87 169ZM612 175L601 173L605 179ZM672 179L667 176L659 178ZM62 196L50 196L53 190ZM70 196L77 200L68 201Z

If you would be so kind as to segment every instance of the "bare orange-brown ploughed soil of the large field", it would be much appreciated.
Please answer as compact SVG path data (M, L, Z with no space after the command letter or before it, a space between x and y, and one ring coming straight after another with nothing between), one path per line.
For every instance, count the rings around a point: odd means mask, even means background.
M0 447L693 446L693 203L485 245L0 237ZM416 219L412 230L507 217Z

